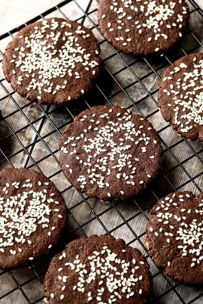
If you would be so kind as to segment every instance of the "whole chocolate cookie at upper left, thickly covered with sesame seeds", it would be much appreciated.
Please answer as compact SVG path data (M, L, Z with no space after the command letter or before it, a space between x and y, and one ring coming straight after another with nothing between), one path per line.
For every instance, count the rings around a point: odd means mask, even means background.
M3 71L22 97L59 105L92 87L100 70L99 52L91 30L76 21L50 18L18 32L6 48Z

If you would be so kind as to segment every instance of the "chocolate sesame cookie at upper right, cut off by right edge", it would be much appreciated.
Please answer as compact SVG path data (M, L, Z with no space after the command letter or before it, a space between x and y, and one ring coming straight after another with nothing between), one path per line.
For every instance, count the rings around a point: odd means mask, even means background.
M158 104L166 122L181 136L203 141L203 54L186 55L163 75Z

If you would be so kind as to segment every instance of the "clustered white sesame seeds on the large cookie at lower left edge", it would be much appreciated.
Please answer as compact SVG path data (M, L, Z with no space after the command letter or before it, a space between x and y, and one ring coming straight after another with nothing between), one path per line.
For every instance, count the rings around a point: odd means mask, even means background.
M49 182L46 183L49 185ZM35 187L37 190L35 191ZM41 191L40 191L41 187ZM29 238L32 234L35 235L38 227L43 230L49 229L50 214L52 210L48 204L49 201L57 204L51 197L51 194L45 189L41 181L33 179L26 179L24 181L14 181L11 183L6 182L3 187L3 192L7 195L8 188L11 193L19 189L15 196L8 196L4 202L3 214L7 220L1 224L1 247L9 247L10 254L15 255L16 251L12 248L18 247L18 252L22 252L21 244L25 246L31 245L33 241ZM0 202L4 197L0 197ZM9 233L8 233L9 231ZM50 236L51 233L47 232ZM45 233L46 235L46 233ZM6 241L4 240L6 238ZM28 244L28 245L26 245ZM12 247L13 246L13 247ZM48 248L51 248L49 245ZM0 249L4 252L4 249ZM34 257L30 256L28 259L31 261Z

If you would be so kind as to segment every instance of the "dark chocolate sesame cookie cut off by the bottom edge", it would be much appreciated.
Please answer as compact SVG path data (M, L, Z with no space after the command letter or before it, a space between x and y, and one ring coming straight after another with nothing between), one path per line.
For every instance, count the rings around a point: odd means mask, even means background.
M112 236L94 235L72 241L56 255L44 285L49 304L142 304L152 279L138 249Z

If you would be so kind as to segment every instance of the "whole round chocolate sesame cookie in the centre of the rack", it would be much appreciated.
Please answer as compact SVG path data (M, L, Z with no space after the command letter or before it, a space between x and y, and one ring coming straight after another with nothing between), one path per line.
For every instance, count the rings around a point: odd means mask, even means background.
M141 193L161 165L160 139L143 117L118 106L87 109L59 143L64 175L76 189L104 201Z

